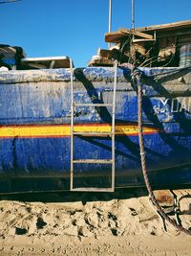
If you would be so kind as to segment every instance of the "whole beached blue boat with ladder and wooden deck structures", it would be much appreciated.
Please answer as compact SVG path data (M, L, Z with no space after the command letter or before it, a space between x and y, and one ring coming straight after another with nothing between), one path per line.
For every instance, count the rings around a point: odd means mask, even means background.
M133 44L124 45L129 36ZM68 57L23 54L0 72L0 193L144 186L135 70L142 76L150 183L190 186L191 21L120 29L105 38L115 47L99 50L88 67L74 68ZM158 47L158 58L148 45L155 54Z

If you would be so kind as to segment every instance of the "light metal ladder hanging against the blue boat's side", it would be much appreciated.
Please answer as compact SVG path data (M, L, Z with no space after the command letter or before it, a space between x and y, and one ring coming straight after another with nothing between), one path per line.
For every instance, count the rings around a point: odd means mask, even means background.
M117 90L117 61L115 61L114 93L112 104L76 104L74 103L74 82L73 82L73 61L70 60L71 70L71 191L78 192L114 192L115 191L115 110L116 110L116 90ZM112 106L112 128L111 132L75 132L74 131L74 107L75 106ZM110 136L112 138L112 158L111 159L74 159L74 136ZM111 187L74 187L74 164L111 164L112 180Z

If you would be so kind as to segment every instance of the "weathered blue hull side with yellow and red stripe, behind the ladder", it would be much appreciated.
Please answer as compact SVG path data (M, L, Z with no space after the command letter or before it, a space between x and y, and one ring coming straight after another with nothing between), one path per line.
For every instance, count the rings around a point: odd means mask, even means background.
M143 71L147 75L143 86L143 134L151 183L189 185L190 69ZM154 80L156 77L159 81ZM182 77L186 83L180 81ZM113 80L112 68L75 70L75 102L111 103ZM118 69L117 80L116 187L142 186L137 90L128 69ZM2 72L0 95L0 193L69 189L70 73L64 69ZM74 112L74 128L108 132L111 110L79 106ZM108 137L74 138L75 159L109 159L111 153ZM75 164L74 176L76 186L104 183L107 187L111 165ZM18 181L20 185L15 185Z

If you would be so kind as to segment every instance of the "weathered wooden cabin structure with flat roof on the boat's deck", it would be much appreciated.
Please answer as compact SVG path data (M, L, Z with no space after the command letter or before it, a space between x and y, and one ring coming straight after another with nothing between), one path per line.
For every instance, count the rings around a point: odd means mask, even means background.
M132 63L143 67L175 67L191 64L191 20L154 25L134 30L119 28L105 34L113 46L99 49L90 66Z

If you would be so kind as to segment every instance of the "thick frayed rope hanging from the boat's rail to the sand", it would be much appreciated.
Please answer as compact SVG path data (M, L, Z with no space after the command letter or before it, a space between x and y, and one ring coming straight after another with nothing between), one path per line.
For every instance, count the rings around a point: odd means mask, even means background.
M191 236L191 230L188 230L181 225L179 225L176 221L172 220L168 217L167 214L164 213L162 208L159 206L159 202L156 199L153 190L151 188L147 170L146 170L146 161L145 161L145 151L144 151L144 143L143 143L143 134L142 134L142 77L145 76L141 71L138 69L132 70L132 78L133 81L137 83L138 86L138 139L139 139L139 149L140 149L140 160L141 160L141 168L142 174L144 177L144 181L146 184L146 188L148 190L149 196L155 205L159 215L163 218L163 220L168 221L171 223L175 228L180 230L181 232Z

